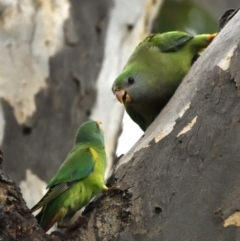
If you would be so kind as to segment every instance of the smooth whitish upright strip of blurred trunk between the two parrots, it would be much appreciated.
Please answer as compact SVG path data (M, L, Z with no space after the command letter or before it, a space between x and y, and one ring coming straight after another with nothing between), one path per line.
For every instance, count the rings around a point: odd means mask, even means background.
M138 43L151 33L153 20L162 2L163 0L113 1L106 33L104 59L96 84L98 94L90 116L92 119L100 119L103 122L108 159L106 177L115 159L124 114L123 105L112 93L112 83L122 71ZM128 130L131 130L133 135L121 136L120 142L125 141L131 146L137 141L142 131L132 121L127 125L123 123L123 134L128 133ZM126 144L123 148L121 146L119 148L123 149Z

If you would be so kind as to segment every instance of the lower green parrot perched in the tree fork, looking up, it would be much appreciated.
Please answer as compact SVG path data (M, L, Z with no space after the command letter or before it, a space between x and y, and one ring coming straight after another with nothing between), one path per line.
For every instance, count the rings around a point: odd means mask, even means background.
M83 123L67 158L48 183L45 196L31 209L39 208L38 223L47 232L56 222L66 228L66 222L95 195L108 188L104 183L106 153L100 121Z

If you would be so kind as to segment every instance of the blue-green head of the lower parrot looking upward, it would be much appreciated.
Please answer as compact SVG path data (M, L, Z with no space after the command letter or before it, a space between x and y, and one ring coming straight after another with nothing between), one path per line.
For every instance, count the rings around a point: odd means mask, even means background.
M100 146L104 145L104 134L100 127L101 121L87 121L84 122L77 131L75 144L80 142L91 142Z

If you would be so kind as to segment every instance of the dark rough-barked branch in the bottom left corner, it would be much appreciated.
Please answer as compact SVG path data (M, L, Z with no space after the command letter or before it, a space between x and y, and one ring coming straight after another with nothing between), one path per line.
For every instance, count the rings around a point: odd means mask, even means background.
M12 240L47 240L22 199L19 187L2 170L0 151L0 238Z

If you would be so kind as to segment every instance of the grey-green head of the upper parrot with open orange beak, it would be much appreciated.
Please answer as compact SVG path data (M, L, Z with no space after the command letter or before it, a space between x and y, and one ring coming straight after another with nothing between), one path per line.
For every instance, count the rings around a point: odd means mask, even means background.
M143 71L140 70L134 65L126 66L113 83L113 94L125 106L143 102L149 93Z

